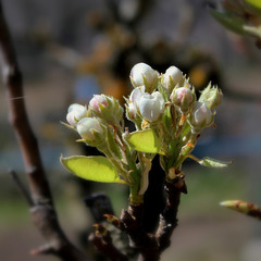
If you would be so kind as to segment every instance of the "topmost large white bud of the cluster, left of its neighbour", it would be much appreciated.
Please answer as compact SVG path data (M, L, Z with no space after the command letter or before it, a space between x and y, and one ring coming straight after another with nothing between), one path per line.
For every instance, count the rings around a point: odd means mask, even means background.
M152 92L157 88L158 72L146 63L134 65L129 77L134 87L144 85L147 92Z

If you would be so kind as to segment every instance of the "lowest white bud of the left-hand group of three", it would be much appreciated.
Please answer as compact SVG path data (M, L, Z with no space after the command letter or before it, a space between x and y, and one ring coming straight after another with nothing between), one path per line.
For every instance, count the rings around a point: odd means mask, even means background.
M90 146L96 146L104 140L105 132L101 123L95 117L84 117L77 124L77 132Z

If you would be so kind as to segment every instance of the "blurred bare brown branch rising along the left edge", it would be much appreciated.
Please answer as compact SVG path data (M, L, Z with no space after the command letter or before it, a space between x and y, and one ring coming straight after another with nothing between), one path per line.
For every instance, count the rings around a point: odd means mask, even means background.
M57 216L51 191L41 163L37 139L32 130L23 95L23 80L8 25L0 2L0 55L3 82L7 86L9 121L22 150L27 181L32 217L49 245L49 251L64 261L87 260L65 237ZM51 250L50 250L51 249Z

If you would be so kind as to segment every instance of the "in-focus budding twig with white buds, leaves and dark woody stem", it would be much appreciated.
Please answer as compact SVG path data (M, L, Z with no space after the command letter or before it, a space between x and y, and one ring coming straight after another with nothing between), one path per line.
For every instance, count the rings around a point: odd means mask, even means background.
M222 92L209 84L197 100L189 79L175 66L160 74L150 65L138 63L130 71L130 82L134 90L126 99L125 109L136 130L130 133L124 127L123 108L112 97L96 95L88 105L70 105L67 126L82 136L80 141L97 147L104 156L73 156L62 158L61 163L82 178L129 187L128 210L123 210L120 219L105 216L109 223L128 235L129 246L140 254L140 260L157 261L170 246L177 226L181 194L187 194L182 172L184 161L190 158L204 166L229 165L229 162L200 160L191 154L201 130L213 125ZM144 196L156 154L160 156L165 173L166 202L159 216L158 229L148 233L144 214L150 198L145 201ZM101 244L102 233L98 234L91 241L102 252L105 252L104 245L113 250L111 241ZM104 238L107 235L104 233Z

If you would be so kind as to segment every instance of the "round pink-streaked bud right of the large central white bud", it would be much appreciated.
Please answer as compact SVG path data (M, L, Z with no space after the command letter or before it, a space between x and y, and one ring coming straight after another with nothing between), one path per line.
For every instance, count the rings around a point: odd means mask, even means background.
M175 88L171 94L171 101L181 108L183 113L188 112L192 103L196 100L196 95L194 90L187 87Z

